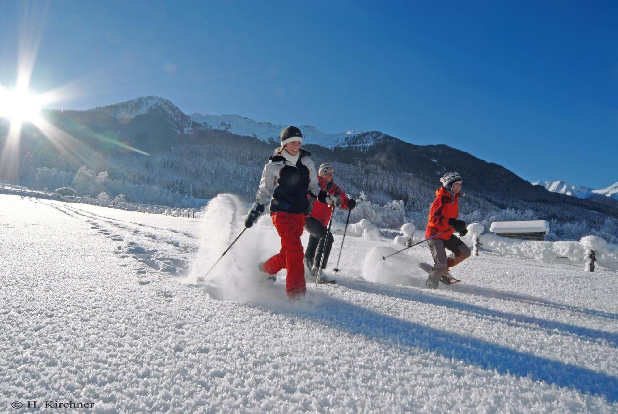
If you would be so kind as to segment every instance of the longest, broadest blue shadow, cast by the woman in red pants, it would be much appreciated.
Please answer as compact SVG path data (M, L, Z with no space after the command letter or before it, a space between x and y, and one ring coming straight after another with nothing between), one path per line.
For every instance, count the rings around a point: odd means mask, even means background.
M286 313L281 310L275 312ZM434 352L483 370L496 370L503 375L530 378L531 381L545 381L559 387L577 389L584 394L598 394L610 403L618 401L618 378L611 375L536 357L475 337L402 321L334 298L325 300L318 311L290 313L352 335L361 334L368 340L378 340L389 346L395 344Z

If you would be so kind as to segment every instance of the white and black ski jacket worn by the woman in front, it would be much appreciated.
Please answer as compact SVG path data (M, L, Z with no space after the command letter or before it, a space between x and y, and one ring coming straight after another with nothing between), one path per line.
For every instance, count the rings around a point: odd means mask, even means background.
M310 155L309 151L301 148L294 165L281 154L273 153L262 172L256 203L265 206L273 197L271 212L308 214L310 206L307 194L318 199L326 196L318 184L318 174Z

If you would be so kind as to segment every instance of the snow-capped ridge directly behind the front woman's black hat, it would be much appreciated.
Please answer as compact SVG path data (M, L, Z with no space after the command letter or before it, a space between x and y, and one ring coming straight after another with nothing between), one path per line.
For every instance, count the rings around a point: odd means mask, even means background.
M256 137L263 141L268 141L270 138L279 140L281 130L288 125L276 125L270 122L258 122L253 119L248 119L240 115L202 115L192 114L189 116L193 122L206 125L213 129L226 130L236 135L245 135L247 137ZM295 125L305 135L303 143L318 144L332 147L335 142L344 140L347 137L353 137L362 133L358 130L349 130L344 132L326 133L317 129L313 125Z

